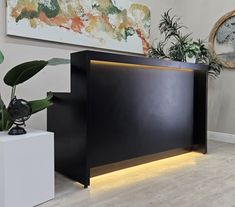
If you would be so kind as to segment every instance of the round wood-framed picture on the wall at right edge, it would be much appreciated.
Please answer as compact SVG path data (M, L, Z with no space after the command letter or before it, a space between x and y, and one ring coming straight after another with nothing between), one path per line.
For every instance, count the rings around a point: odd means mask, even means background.
M213 52L227 68L235 68L235 11L215 24L209 40Z

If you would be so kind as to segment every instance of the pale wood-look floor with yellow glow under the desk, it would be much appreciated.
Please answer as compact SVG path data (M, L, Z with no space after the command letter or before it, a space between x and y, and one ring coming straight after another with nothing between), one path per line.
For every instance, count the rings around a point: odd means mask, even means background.
M39 207L235 207L235 145L208 151L94 177L88 189L56 174L56 198Z

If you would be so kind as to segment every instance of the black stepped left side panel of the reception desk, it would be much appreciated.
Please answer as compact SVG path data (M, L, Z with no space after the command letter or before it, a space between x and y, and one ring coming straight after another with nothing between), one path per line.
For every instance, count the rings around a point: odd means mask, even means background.
M71 57L72 91L54 93L54 105L48 109L48 130L55 132L56 171L87 187L86 55L72 54Z

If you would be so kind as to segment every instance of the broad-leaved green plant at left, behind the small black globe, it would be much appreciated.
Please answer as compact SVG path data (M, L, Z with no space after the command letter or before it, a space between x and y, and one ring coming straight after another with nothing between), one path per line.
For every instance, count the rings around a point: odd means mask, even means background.
M4 60L4 56L0 51L0 63ZM45 60L34 60L30 62L25 62L13 67L4 77L4 83L12 88L11 90L11 100L15 98L16 87L19 84L24 83L25 81L32 78L38 72L40 72L47 65L55 66L60 64L68 64L69 60L60 59L60 58L52 58L48 61ZM49 92L47 97L44 99L29 101L29 104L32 109L32 114L37 113L49 106L52 103L52 93ZM10 113L8 112L8 107L4 104L0 95L0 131L9 130L13 125L12 118Z

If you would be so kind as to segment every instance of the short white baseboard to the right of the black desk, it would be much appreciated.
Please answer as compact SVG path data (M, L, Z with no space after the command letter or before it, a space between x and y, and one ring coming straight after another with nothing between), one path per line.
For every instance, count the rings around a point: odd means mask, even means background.
M209 140L235 144L235 134L208 131L207 138Z

